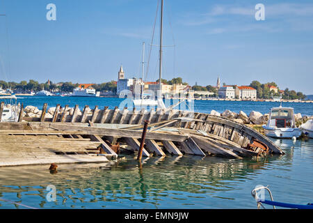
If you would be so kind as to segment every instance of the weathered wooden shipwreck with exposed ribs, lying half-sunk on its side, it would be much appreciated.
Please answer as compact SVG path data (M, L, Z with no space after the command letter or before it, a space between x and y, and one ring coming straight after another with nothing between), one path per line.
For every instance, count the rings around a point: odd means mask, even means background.
M0 123L0 166L69 162L108 162L139 150L145 120L150 121L143 156L199 155L242 159L284 155L273 142L241 123L200 112L176 109L90 109L57 105L47 118Z

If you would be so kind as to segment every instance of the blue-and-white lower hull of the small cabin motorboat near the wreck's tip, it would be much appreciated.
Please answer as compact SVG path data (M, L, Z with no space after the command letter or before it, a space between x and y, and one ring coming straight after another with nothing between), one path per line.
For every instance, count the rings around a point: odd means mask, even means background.
M291 139L292 137L300 137L300 128L268 128L266 125L262 126L267 137Z

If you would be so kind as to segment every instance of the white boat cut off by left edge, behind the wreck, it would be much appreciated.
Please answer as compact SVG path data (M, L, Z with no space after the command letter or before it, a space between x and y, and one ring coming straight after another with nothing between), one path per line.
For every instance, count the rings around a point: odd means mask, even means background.
M4 107L1 114L1 122L16 122L19 118L19 105L15 95L1 96L1 101L4 101Z

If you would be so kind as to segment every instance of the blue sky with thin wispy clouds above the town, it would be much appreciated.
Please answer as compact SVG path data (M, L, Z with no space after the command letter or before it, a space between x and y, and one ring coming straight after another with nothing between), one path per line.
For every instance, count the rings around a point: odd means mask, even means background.
M56 21L46 6L56 5ZM0 79L102 83L141 77L158 0L1 0ZM265 21L255 20L255 5ZM159 19L157 20L157 25ZM8 35L7 35L8 30ZM159 27L154 45L158 44ZM193 85L276 82L312 94L312 1L165 0L163 78ZM175 47L172 47L175 45ZM147 79L158 79L152 47Z

